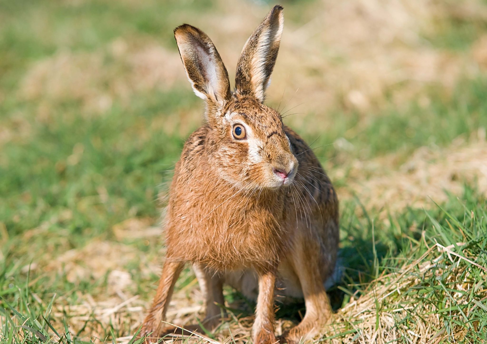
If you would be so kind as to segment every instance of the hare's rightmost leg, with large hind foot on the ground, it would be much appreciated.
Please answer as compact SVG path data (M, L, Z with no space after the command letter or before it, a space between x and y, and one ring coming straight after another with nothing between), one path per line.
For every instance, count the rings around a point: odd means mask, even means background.
M323 279L327 276L322 273L320 240L310 237L309 234L309 228L297 234L287 257L300 280L306 313L299 325L281 336L280 343L297 344L312 339L319 334L333 314L323 286Z

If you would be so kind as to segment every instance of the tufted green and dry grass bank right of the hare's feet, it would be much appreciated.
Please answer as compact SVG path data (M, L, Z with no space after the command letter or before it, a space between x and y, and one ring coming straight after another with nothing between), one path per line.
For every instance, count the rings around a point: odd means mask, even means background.
M451 197L429 211L409 209L365 224L351 218L348 238L357 239L351 240L352 252L345 253L360 258L347 259L346 266L354 269L344 274L348 288L338 288L356 301L345 298L339 313L343 324L334 324L330 332L340 337L356 321L371 327L355 328L356 336L389 328L386 335L378 332L384 342L407 343L419 336L482 343L487 326L485 218L484 196L468 187L462 198ZM358 253L357 247L368 250ZM362 307L353 309L355 304Z

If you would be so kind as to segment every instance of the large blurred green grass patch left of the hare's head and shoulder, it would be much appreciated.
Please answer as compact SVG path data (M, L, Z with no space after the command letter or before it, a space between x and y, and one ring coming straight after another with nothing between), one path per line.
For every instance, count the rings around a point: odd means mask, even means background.
M181 109L181 101L198 102L187 92L151 94L88 119L76 113L76 105L65 106L56 121L4 145L0 218L9 232L34 228L66 209L73 212L68 229L80 234L104 232L128 213L156 217L159 184L184 141L153 121L161 109ZM100 188L110 195L106 202L98 197Z

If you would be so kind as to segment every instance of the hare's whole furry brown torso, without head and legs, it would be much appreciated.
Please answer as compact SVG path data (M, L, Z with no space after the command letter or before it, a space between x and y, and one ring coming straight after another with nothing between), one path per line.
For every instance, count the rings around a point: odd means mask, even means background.
M255 268L279 262L295 236L307 235L320 243L327 277L337 251L337 197L310 148L286 128L300 162L296 185L241 191L225 179L205 177L218 174L207 156L210 130L196 130L176 164L166 218L167 258L220 272Z

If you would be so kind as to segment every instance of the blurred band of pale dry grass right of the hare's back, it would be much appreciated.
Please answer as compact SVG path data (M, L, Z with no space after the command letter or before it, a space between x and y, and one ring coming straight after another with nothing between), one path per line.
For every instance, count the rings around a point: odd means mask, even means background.
M487 195L487 142L485 129L479 139L457 138L445 148L421 147L397 166L394 154L370 161L355 160L345 169L332 171L336 178L346 175L342 198L356 195L368 209L392 212L404 207L428 207L431 199L443 202L445 192L459 195L464 185L476 184Z

